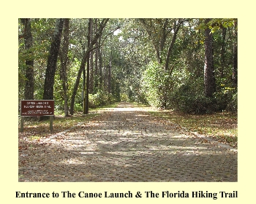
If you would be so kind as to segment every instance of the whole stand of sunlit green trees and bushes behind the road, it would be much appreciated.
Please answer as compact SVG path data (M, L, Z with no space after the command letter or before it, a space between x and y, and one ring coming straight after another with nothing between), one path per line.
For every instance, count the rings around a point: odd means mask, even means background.
M19 19L18 98L65 116L114 101L237 111L237 36L231 18Z

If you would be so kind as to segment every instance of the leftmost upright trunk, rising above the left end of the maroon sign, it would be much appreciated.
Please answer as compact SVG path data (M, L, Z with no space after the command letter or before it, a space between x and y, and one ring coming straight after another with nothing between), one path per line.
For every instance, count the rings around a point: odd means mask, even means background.
M24 25L24 41L25 49L27 51L26 58L26 85L24 91L24 98L26 100L34 100L34 57L31 47L33 46L33 37L31 33L31 19L22 18L21 23Z

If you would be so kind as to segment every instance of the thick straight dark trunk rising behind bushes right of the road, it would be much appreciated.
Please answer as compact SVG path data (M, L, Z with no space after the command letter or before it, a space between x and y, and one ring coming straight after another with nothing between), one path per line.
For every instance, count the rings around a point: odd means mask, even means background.
M211 19L206 19L206 24ZM205 30L205 66L204 66L204 86L206 97L212 98L216 90L215 77L214 77L214 58L212 47L212 34L211 29Z

